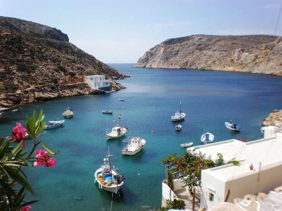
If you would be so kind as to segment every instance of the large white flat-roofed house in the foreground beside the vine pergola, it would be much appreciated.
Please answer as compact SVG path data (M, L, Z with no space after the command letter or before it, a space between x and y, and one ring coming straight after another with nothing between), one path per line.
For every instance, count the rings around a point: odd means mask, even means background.
M232 139L196 147L196 152L201 151L214 162L219 160L218 153L223 155L225 162L234 157L243 160L241 165L228 164L201 171L201 187L197 187L200 208L215 207L225 199L233 203L234 199L243 198L246 194L267 194L282 185L282 130L279 127L267 127L264 138L256 141ZM173 198L171 194L181 189L187 193L188 187L182 188L184 183L181 184L181 181L181 178L174 180L171 193L163 184L163 199Z

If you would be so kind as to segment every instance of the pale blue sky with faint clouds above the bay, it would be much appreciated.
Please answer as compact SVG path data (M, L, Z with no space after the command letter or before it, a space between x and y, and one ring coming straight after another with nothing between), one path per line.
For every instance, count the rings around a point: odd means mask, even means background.
M0 16L60 29L71 43L104 63L136 63L169 38L274 35L281 4L282 0L0 0Z

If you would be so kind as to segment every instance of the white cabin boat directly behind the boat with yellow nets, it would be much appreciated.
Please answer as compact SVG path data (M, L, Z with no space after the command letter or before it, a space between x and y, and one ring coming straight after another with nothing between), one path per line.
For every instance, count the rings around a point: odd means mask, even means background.
M146 144L145 139L136 136L129 137L122 142L127 142L127 145L121 150L123 155L136 155Z

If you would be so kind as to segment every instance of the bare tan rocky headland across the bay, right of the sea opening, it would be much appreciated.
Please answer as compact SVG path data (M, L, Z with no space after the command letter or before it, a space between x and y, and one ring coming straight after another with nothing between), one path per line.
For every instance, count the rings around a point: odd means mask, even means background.
M134 67L224 70L282 76L281 41L282 37L270 35L191 35L167 39L148 50Z

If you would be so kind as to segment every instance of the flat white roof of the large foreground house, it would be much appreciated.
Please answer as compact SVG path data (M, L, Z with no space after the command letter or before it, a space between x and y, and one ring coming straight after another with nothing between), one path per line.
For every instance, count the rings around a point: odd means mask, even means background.
M259 170L269 169L278 165L282 165L282 133L278 132L276 127L270 126L265 132L267 136L264 139L250 142L242 142L235 139L221 141L201 146L196 146L196 152L201 151L206 157L211 156L211 160L218 160L217 153L223 155L225 162L234 158L236 160L244 160L241 165L235 166L224 165L203 171L216 176L222 181L230 181L246 175L256 174ZM272 131L271 131L272 130ZM275 135L275 136L274 136ZM195 147L190 147L193 149ZM260 165L261 162L261 165ZM254 166L254 170L250 171L250 165ZM234 173L235 172L235 173ZM234 177L233 177L234 175Z

